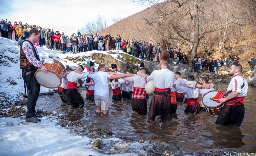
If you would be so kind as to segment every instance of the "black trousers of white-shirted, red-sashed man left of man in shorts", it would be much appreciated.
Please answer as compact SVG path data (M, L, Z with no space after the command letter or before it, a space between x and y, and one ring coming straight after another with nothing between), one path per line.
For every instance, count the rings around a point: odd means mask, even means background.
M67 89L67 96L69 97L71 107L83 108L85 102L77 89Z

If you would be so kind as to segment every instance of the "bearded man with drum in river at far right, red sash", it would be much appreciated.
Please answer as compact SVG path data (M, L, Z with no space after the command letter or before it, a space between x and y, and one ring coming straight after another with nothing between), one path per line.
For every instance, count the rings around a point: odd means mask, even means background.
M240 126L244 119L244 97L247 96L248 83L241 75L241 64L233 64L228 71L232 76L226 93L228 96L219 99L221 103L226 103L215 123Z

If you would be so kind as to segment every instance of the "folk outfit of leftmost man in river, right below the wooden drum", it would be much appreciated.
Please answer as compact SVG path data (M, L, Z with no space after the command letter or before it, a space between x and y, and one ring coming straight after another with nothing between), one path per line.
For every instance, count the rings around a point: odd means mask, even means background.
M60 87L58 87L57 92L60 95L60 99L61 99L62 103L66 103L67 105L70 105L70 100L69 100L69 97L67 96L68 83L69 83L69 81L67 80L67 73L65 73L61 79L61 85L60 85Z

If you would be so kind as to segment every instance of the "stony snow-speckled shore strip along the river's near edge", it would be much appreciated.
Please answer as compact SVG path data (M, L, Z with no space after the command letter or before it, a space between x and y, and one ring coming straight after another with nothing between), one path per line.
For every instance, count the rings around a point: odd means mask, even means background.
M24 117L26 110L27 99L16 101L11 105L0 104L0 118L2 117ZM175 144L165 142L157 142L154 140L139 140L134 141L126 136L117 136L111 131L95 127L91 124L83 124L79 121L71 121L65 115L60 115L58 112L47 112L46 110L36 110L38 115L43 115L47 119L57 119L60 126L71 130L77 135L87 136L92 138L92 148L104 154L125 154L135 153L138 156L221 156L223 149L208 149L189 151ZM25 122L25 120L24 120ZM104 140L110 138L118 138L116 141L111 141L111 144ZM121 140L121 141L120 141ZM136 145L136 147L134 147Z

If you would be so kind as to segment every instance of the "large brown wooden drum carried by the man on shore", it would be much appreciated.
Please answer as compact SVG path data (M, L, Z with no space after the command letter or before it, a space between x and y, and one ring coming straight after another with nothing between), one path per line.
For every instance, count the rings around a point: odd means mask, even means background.
M41 69L35 72L37 83L46 88L57 88L61 85L61 79L65 73L65 67L62 63L54 59L44 59L42 61L48 69L48 73L44 73Z

